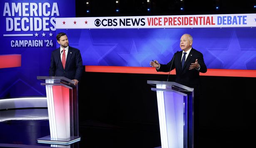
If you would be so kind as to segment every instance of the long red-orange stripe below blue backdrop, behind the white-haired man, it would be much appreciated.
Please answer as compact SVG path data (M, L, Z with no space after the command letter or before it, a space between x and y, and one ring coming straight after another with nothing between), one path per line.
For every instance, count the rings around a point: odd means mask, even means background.
M141 74L164 74L168 73L157 72L151 67L124 67L124 66L85 66L86 72L99 73L141 73ZM171 75L175 75L175 70L172 70ZM200 73L205 76L228 76L228 77L255 77L256 70L232 70L232 69L208 69L206 73Z

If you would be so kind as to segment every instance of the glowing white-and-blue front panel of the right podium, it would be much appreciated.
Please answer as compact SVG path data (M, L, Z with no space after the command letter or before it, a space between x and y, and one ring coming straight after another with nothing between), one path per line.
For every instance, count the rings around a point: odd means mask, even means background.
M187 146L187 95L157 90L162 148Z

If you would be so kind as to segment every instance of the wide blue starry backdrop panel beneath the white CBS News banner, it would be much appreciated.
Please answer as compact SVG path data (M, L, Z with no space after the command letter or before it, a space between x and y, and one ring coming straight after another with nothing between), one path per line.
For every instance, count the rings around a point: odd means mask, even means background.
M83 65L149 67L168 63L182 34L193 36L193 48L204 54L207 68L256 70L256 28L57 29L80 49Z

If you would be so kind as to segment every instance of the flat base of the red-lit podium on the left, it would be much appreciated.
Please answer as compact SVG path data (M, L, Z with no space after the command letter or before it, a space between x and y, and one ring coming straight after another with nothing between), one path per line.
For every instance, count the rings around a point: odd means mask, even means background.
M37 143L56 144L56 145L70 145L81 140L80 136L70 136L70 138L51 138L45 136L37 139Z

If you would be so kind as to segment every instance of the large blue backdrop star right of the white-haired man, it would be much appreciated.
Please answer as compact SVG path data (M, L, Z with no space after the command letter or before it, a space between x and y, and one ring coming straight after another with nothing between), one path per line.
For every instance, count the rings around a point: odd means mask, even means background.
M222 63L224 69L247 69L246 63L249 62L254 55L255 49L242 49L236 32L233 31L229 44L222 49L208 49L208 51ZM245 61L246 59L246 61Z

